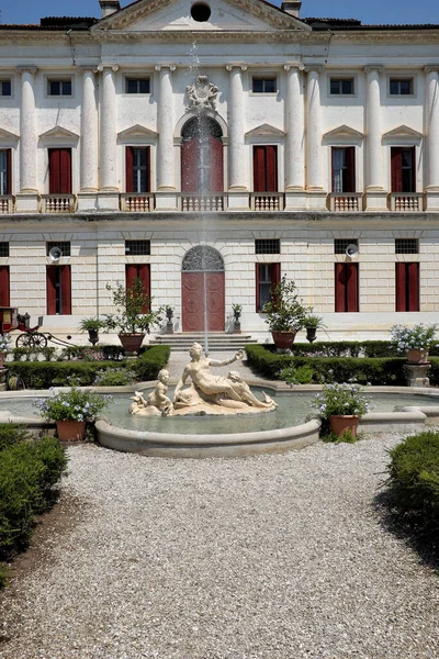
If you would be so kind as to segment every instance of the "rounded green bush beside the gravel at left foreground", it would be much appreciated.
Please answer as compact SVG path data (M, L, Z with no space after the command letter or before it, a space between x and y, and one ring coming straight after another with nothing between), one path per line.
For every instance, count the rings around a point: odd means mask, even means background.
M67 458L54 437L23 440L0 451L0 560L26 547L35 515L54 499Z

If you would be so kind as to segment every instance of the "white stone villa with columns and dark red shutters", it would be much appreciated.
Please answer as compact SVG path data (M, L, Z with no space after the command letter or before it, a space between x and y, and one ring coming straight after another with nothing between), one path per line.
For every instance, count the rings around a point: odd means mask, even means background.
M285 273L334 338L438 320L439 25L100 5L0 25L0 306L74 331L137 275L189 332L204 281L263 340Z

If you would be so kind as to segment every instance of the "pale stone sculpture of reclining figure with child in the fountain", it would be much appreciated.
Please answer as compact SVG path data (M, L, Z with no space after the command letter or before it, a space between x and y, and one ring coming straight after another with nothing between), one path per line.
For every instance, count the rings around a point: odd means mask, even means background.
M270 412L278 406L263 392L264 400L257 399L238 371L229 371L226 377L211 372L211 367L227 366L243 359L240 350L230 359L218 361L206 357L203 347L194 343L189 355L191 361L177 383L173 403L167 396L169 372L164 369L159 372L155 391L146 400L140 392L135 392L130 412L146 416L226 415ZM189 378L191 383L187 386Z

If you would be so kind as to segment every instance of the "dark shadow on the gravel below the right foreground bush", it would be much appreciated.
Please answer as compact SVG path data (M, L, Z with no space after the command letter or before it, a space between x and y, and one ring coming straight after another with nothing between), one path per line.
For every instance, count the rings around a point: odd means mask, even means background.
M439 534L438 529L426 529L413 516L398 513L392 504L392 493L387 489L374 499L382 527L416 551L420 561L439 573Z

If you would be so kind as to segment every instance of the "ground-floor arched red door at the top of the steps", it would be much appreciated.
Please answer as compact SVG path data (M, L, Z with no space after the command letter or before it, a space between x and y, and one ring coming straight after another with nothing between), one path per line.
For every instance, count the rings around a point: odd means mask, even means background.
M207 245L192 247L181 268L183 332L224 332L224 260Z

